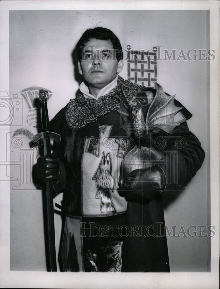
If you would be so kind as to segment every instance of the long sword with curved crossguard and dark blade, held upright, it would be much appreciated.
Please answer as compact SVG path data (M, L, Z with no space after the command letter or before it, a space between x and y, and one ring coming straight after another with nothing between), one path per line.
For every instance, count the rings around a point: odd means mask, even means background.
M44 140L44 155L50 155L50 139L61 141L61 136L54 132L48 131L48 111L47 111L47 99L48 92L41 89L39 91L39 99L42 102L42 125L43 132L36 134L35 138L41 138ZM53 183L52 181L46 182L46 234L45 240L48 242L48 265L47 271L57 271L56 261L56 248L55 248L55 231L54 231L54 208L53 208Z

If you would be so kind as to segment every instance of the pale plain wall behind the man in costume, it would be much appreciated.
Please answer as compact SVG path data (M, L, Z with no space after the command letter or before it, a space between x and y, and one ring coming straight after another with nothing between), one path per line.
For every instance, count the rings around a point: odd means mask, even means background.
M147 9L147 7L146 7ZM101 22L101 23L100 23ZM99 23L99 24L98 24ZM123 49L152 49L162 46L171 53L176 49L187 54L189 49L208 49L208 12L206 11L10 11L10 97L20 91L40 86L52 91L48 102L52 118L69 99L75 96L75 79L71 52L85 29L98 26L110 28L121 40ZM161 58L164 54L161 52ZM198 52L197 52L198 54ZM157 82L193 114L189 128L199 138L206 152L202 168L187 189L165 209L168 228L176 225L207 225L209 222L209 74L208 61L157 61ZM127 77L127 62L120 73ZM18 128L37 131L26 121L28 107L23 102L23 125ZM22 135L20 135L21 137ZM20 184L20 155L27 151L36 162L36 149L29 139L23 146L11 146L13 161L10 176L10 262L11 270L45 270L42 218L42 192L31 181ZM30 162L31 164L31 162ZM31 170L29 165L27 170ZM30 180L30 179L29 179ZM55 214L57 248L61 217ZM207 271L209 244L207 238L168 238L171 271Z

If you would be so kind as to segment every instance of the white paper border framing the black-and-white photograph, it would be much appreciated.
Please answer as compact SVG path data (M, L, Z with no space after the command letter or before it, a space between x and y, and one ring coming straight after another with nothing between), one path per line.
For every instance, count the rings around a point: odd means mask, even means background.
M10 185L4 182L0 195L1 288L219 288L219 1L1 1L1 91L9 92L9 10L146 10L146 2L148 10L210 11L210 48L215 49L215 61L210 61L210 175L211 192L218 196L213 198L211 193L210 197L210 223L215 224L211 272L94 275L10 271Z

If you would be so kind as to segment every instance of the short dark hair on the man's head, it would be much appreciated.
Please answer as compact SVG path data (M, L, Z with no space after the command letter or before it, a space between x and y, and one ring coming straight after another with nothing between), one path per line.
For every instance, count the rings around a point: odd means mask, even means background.
M119 61L121 58L122 47L119 38L108 28L95 27L94 29L87 29L76 45L78 60L81 62L82 59L82 47L91 38L96 38L100 40L111 40L113 48L116 50L116 58ZM122 57L123 58L123 57Z

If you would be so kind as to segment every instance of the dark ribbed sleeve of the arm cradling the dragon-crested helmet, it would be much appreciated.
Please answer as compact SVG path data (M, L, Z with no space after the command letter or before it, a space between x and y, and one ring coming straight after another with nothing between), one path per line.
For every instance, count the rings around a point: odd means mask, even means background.
M173 134L165 131L152 136L154 147L163 153L167 189L186 186L202 166L205 153L198 138L186 122L175 127Z

